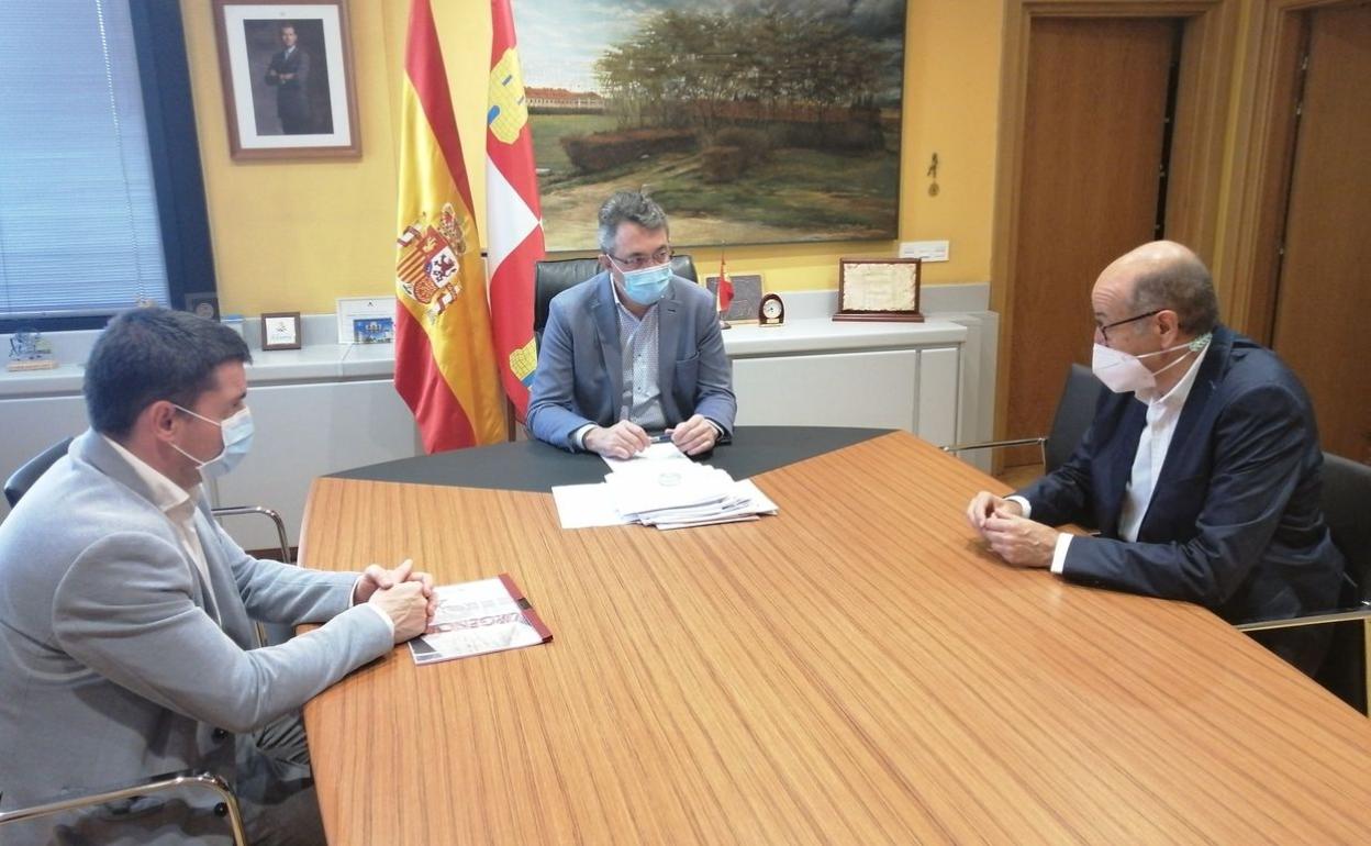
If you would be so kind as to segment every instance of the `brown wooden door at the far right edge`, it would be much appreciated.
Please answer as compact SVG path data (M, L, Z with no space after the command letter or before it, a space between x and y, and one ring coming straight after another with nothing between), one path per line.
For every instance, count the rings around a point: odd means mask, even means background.
M1308 14L1272 343L1323 448L1371 462L1371 5Z

